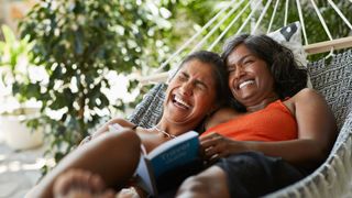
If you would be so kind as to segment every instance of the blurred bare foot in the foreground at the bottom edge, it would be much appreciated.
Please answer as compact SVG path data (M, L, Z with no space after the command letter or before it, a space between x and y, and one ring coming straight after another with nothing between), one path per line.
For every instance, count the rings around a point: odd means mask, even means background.
M61 175L54 184L55 198L113 198L99 175L82 169L72 169Z

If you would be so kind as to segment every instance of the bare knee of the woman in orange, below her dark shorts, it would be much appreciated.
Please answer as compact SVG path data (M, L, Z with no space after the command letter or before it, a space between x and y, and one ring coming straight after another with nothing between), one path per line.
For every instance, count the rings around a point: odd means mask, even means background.
M211 166L200 174L189 177L179 187L179 198L230 197L226 173L218 166Z

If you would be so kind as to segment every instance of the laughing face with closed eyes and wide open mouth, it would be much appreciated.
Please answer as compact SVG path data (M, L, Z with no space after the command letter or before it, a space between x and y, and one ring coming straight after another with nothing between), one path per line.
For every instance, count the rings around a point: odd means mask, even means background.
M198 59L182 66L166 90L163 118L194 129L216 103L212 67Z

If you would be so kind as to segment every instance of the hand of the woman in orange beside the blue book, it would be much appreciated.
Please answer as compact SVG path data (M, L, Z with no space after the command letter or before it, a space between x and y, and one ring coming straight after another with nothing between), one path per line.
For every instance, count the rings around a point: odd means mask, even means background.
M220 157L246 151L244 142L234 141L218 133L210 133L199 140L204 148L205 158L210 163Z

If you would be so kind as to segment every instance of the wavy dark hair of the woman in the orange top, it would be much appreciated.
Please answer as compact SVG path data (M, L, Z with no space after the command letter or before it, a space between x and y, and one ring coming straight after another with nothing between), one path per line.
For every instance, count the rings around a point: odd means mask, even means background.
M307 70L297 65L293 52L264 34L240 34L227 41L221 54L224 63L241 44L266 63L274 77L274 90L279 99L293 97L307 87Z

